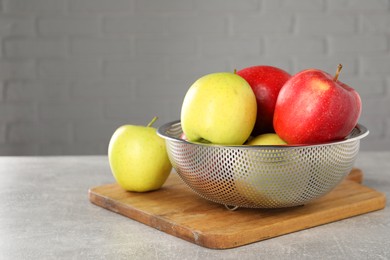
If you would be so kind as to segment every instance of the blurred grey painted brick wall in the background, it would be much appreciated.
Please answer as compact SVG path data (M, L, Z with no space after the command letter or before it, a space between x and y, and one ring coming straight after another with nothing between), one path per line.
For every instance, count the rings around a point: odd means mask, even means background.
M200 76L315 67L359 91L363 150L390 147L390 0L0 0L0 155L106 154L178 119Z

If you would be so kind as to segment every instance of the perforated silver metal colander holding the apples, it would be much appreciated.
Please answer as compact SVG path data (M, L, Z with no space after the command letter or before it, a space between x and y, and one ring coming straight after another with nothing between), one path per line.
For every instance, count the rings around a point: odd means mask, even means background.
M222 146L180 139L180 121L158 128L172 166L198 195L229 209L307 204L330 192L351 171L360 139L357 125L345 140L306 146Z

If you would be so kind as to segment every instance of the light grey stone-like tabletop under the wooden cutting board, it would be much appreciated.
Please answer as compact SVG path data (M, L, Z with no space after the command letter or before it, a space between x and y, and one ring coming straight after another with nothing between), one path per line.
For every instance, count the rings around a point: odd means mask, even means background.
M363 184L390 195L390 152L360 152ZM390 259L390 207L233 249L207 249L110 212L106 156L0 157L0 259Z

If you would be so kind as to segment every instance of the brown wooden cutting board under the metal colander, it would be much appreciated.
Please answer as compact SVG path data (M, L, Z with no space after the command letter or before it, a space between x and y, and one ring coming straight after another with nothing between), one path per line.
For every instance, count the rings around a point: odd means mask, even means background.
M285 209L227 210L185 186L174 172L153 192L124 191L117 184L89 189L92 203L197 245L224 249L379 210L384 194L361 185L353 169L332 192L304 206Z

